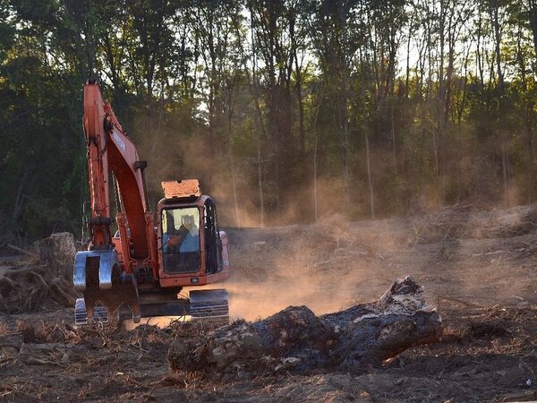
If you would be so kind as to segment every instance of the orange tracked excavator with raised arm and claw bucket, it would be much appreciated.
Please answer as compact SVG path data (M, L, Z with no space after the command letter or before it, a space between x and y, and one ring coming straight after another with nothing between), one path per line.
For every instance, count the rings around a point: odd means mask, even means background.
M98 81L84 86L83 124L90 244L74 259L74 288L83 295L75 323L107 322L111 315L133 322L183 315L227 320L226 289L195 289L229 277L227 236L218 229L215 202L201 194L196 179L162 182L164 198L154 217L144 176L148 164L103 101ZM194 289L182 296L183 287Z

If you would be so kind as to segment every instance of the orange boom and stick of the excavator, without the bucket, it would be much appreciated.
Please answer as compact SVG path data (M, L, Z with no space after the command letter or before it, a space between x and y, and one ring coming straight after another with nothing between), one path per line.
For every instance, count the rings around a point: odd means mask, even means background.
M111 246L109 172L117 181L124 213L131 232L133 257L149 258L152 229L148 231L147 193L141 161L134 143L124 132L110 104L103 101L97 82L84 87L84 133L90 172L90 236L94 249ZM121 216L120 216L121 218ZM152 215L148 215L152 221ZM151 224L152 227L152 224ZM149 233L148 233L149 232ZM120 234L121 236L121 234ZM122 239L122 244L128 244Z

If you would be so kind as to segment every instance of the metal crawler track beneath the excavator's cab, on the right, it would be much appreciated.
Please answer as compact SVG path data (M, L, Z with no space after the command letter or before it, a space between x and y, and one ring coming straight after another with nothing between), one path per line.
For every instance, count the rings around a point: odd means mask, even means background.
M227 321L229 304L226 289L203 289L190 292L190 314L192 319Z

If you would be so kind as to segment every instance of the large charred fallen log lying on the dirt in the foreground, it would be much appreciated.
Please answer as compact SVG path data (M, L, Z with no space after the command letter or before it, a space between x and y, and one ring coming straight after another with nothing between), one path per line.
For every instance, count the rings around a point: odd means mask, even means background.
M206 336L178 335L168 361L175 371L214 377L287 371L361 371L405 349L439 340L439 314L413 279L397 280L379 301L315 316L290 306L260 322L234 322Z

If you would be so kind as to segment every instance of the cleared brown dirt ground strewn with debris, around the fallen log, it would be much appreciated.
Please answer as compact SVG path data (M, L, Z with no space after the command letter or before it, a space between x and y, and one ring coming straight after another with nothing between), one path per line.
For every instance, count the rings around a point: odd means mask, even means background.
M438 307L444 337L360 373L246 373L217 382L204 373L171 373L166 361L175 337L209 329L77 330L72 310L50 302L38 312L0 314L0 399L537 400L537 206L456 206L355 223L332 217L228 234L233 274L226 287L235 318L256 320L290 304L334 312L375 300L410 275ZM0 259L0 270L29 265L22 257Z

